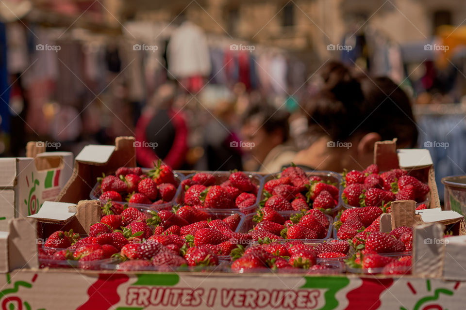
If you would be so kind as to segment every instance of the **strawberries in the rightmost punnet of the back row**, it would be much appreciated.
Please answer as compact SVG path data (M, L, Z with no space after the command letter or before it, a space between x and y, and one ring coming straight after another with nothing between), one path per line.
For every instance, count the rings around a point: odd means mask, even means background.
M429 186L401 169L380 173L373 164L364 171L352 170L343 174L343 202L359 206L380 206L395 200L425 201Z

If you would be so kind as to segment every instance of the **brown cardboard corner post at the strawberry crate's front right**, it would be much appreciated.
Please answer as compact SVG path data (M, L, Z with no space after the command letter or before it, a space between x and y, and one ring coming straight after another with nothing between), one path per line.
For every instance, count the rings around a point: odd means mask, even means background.
M420 224L413 231L413 275L439 278L443 273L445 226L438 223Z

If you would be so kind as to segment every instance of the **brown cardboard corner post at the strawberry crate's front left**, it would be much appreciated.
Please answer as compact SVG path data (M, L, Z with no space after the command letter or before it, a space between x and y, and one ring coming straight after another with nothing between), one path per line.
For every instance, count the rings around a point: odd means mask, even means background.
M33 218L14 218L9 221L9 269L38 268L37 225Z

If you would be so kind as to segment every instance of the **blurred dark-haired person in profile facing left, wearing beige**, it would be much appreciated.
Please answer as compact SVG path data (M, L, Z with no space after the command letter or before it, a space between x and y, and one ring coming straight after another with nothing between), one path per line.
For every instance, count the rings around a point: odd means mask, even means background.
M289 143L289 113L263 103L245 113L241 134L243 150L250 155L248 170L275 173L296 155ZM248 167L249 166L249 167Z

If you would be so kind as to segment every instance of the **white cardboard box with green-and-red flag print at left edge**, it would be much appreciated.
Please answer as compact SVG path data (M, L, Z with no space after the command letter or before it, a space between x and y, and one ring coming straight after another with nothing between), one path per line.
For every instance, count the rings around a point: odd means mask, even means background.
M36 213L53 201L73 171L73 154L46 152L40 142L29 142L28 157L0 158L0 231L8 220Z

